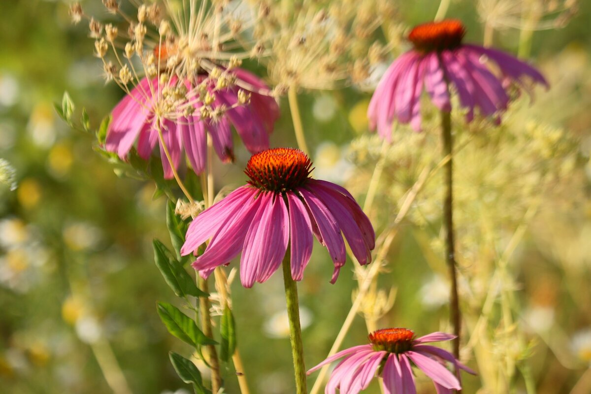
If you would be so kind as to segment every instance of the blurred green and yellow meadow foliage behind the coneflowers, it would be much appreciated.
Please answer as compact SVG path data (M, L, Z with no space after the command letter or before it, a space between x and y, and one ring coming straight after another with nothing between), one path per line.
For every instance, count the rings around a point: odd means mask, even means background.
M83 6L105 15L98 0ZM400 20L413 25L432 19L439 2L397 6ZM482 42L477 10L476 3L456 0L447 15L466 22L467 40ZM515 392L525 392L527 384L539 393L591 392L590 20L591 2L582 1L563 28L532 34L531 57L551 89L538 90L531 106L527 96L519 99L500 128L485 123L464 128L456 122L457 144L468 142L456 161L468 331L476 324L470 317L482 315L492 285L498 286L493 297L510 298L518 327L500 332L491 323L471 341L474 351L463 356L481 370L480 377L465 378L467 393L482 387L487 357L518 364L521 375L506 376ZM495 45L516 54L519 33L496 30ZM168 243L165 200L152 200L151 182L116 176L93 151L94 136L70 129L53 108L67 90L98 128L122 92L105 86L102 64L92 56L93 41L86 26L70 24L66 1L1 1L0 44L0 157L14 168L17 182L15 190L8 185L0 191L0 391L106 393L113 385L121 393L188 389L167 355L186 348L155 313L157 300L174 300L151 248L154 237ZM435 127L421 134L401 127L396 143L384 151L367 133L370 93L309 92L300 96L300 104L317 177L346 184L363 201L376 163L384 163L369 213L383 229L424 166L438 161L438 136ZM272 146L295 146L287 100L281 100L281 109ZM237 148L236 157L232 165L216 163L217 190L243 183L249 155ZM386 291L397 288L397 295L392 309L378 317L380 327L409 327L417 334L447 328L439 184L430 181L417 197L389 251L388 272L379 284ZM522 235L513 245L518 231ZM508 246L510 263L499 271L505 280L490 282ZM350 262L349 271L330 285L326 250L315 248L312 261L300 284L307 366L326 356L356 285ZM232 289L252 392L290 392L281 278L275 275L252 289L236 281ZM497 321L502 312L493 309L487 318ZM363 319L357 318L344 346L365 343L366 335ZM479 353L479 347L489 353ZM225 378L226 391L237 392L231 369ZM376 386L371 390L377 392ZM433 389L420 385L419 390Z

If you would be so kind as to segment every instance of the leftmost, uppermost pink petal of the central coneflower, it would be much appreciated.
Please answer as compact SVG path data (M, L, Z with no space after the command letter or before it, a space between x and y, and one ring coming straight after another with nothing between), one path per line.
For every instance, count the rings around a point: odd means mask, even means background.
M181 248L181 255L189 255L213 236L220 227L239 213L247 204L251 204L258 190L250 186L242 186L228 194L218 203L197 215L189 224L186 240Z

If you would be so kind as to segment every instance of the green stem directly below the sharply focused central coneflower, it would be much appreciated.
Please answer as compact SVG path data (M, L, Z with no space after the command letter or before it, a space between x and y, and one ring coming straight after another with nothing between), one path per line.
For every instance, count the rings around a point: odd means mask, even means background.
M306 367L304 366L304 350L301 341L300 305L297 298L296 281L291 278L290 250L285 252L283 259L283 283L285 285L285 301L287 301L287 316L290 320L291 356L294 360L294 375L296 376L296 394L307 394Z

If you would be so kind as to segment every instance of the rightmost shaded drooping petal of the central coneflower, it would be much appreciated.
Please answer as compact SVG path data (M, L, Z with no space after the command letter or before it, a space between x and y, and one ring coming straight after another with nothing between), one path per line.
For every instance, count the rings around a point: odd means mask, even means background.
M346 201L343 202L347 197L332 189L325 190L324 187L309 187L309 190L319 197L333 214L359 264L365 265L371 262L371 252L363 239L361 230L353 220L353 214L345 205Z

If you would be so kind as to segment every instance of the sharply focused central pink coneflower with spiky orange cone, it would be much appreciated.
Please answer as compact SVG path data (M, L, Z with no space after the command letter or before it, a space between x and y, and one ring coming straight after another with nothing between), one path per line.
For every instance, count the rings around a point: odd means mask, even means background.
M290 246L291 276L300 281L310 260L313 237L326 246L335 266L345 264L345 236L361 265L371 262L374 229L345 188L310 178L311 161L298 149L275 148L251 157L250 180L204 210L189 225L182 255L211 241L193 268L203 276L242 252L242 285L266 281Z

